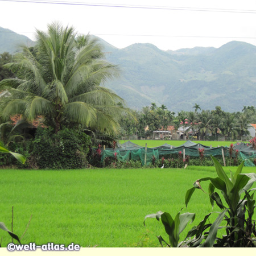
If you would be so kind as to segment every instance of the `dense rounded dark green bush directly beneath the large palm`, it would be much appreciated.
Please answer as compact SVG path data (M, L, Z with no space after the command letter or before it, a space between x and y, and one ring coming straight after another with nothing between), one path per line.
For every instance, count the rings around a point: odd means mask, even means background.
M40 169L84 168L89 146L90 137L82 131L64 128L55 134L50 128L38 128L28 162Z

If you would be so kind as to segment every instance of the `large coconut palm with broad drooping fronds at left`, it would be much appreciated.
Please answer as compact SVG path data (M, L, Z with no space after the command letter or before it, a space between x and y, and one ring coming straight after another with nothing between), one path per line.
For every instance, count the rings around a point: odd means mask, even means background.
M15 62L6 65L16 77L0 82L9 96L1 98L1 117L22 114L24 119L43 115L55 132L69 121L92 130L117 130L117 117L125 110L122 99L102 83L118 76L118 69L104 60L100 44L89 36L76 40L73 27L48 25L36 30L36 46L23 47Z

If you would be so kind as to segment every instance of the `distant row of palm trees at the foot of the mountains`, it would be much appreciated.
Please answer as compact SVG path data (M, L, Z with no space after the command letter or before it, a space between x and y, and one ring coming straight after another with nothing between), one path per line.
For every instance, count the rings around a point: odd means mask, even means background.
M193 106L192 111L174 113L165 105L156 106L154 102L150 106L144 106L141 111L131 110L136 119L124 115L120 120L121 137L130 138L154 138L153 132L167 130L173 126L174 130L183 127L183 130L191 131L197 139L242 139L249 133L250 123L256 123L255 106L243 106L241 112L225 112L221 106L214 110L204 110L199 104ZM210 135L210 137L209 137ZM162 137L164 139L164 137ZM192 139L192 137L191 137Z

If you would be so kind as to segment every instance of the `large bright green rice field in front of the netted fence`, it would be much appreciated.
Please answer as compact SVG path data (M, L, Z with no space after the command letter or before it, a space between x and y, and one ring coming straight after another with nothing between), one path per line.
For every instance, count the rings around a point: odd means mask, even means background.
M227 172L229 169L236 170L225 168ZM244 172L254 171L255 168L244 168ZM159 246L156 236L161 234L167 239L164 229L154 219L146 220L145 228L144 216L158 210L176 214L184 207L187 189L206 176L216 176L214 167L0 170L0 221L11 228L14 206L14 232L20 237L32 214L22 243L135 247L141 241L143 246ZM207 183L202 183L202 187L207 191ZM208 196L195 191L187 210L196 213L194 224L198 224L212 211ZM0 236L2 246L6 246L9 235L0 230Z

